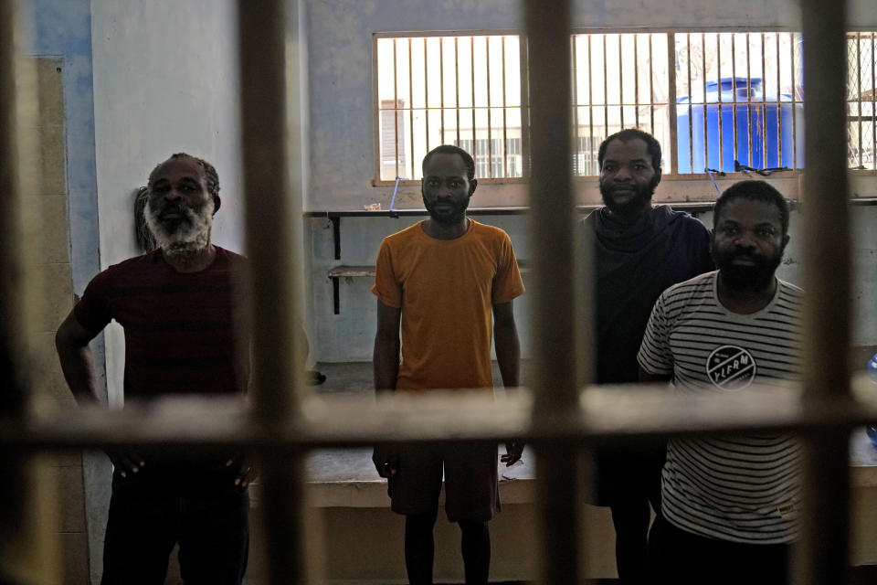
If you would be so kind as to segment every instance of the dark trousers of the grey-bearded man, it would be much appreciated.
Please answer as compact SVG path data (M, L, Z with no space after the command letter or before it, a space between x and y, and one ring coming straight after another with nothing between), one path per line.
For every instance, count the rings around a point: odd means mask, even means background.
M247 569L249 496L234 477L113 476L102 585L163 585L179 543L186 585L239 585Z

